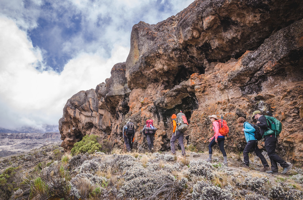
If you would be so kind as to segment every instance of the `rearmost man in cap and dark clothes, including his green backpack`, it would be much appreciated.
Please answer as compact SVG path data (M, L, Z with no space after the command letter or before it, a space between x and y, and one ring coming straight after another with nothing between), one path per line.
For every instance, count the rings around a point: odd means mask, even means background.
M291 169L291 165L287 164L280 156L275 153L276 143L279 134L282 130L282 124L272 116L263 116L261 111L254 111L252 118L257 121L257 126L260 127L260 132L265 140L265 149L271 162L271 170L266 171L269 174L278 174L278 164L283 167L281 174L287 173Z

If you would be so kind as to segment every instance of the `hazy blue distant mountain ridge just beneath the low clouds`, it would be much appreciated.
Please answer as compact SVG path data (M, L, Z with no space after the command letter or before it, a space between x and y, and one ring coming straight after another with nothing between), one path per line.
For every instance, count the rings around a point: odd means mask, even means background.
M17 129L5 129L0 127L0 133L47 133L59 132L57 125L43 125L42 128L24 126Z

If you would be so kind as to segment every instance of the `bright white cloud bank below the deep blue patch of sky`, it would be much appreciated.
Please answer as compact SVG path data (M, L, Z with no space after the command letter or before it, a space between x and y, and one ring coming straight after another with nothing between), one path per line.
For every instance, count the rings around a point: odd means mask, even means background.
M105 81L112 66L125 61L129 51L115 46L107 60L83 52L70 60L61 74L41 73L35 69L41 56L37 56L26 33L3 17L0 28L0 105L4 109L0 127L58 124L67 99Z

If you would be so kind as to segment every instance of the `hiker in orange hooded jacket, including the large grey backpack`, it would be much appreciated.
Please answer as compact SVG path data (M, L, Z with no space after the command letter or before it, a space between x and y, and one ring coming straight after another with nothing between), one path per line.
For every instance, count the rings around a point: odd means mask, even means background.
M173 155L176 155L175 141L178 139L178 143L181 147L182 156L185 157L186 155L185 155L183 138L184 138L184 132L188 128L188 122L186 116L185 114L182 113L182 111L180 111L180 113L178 113L177 115L173 114L171 116L171 119L172 119L171 125L173 126L173 134L170 140L171 153Z

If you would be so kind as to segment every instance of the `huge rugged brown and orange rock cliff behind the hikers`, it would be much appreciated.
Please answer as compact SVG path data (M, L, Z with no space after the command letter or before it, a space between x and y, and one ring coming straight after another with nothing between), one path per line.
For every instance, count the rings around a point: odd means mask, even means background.
M135 24L125 63L96 89L70 98L59 120L62 147L70 150L86 134L122 147L126 119L136 124L134 147L146 119L158 127L156 150L169 150L172 114L182 110L186 132L198 149L213 134L209 115L230 127L228 147L246 142L239 116L270 110L282 121L279 150L303 160L303 2L195 1L158 24ZM260 147L262 144L260 143Z

